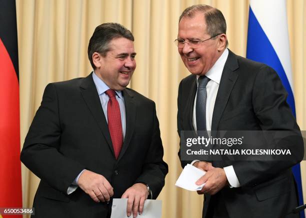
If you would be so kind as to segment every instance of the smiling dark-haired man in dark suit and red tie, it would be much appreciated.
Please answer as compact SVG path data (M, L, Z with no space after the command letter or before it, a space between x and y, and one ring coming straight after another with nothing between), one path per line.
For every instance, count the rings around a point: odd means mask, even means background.
M117 23L97 26L88 57L93 72L46 86L21 161L41 180L37 217L109 217L112 198L127 215L155 199L168 171L155 104L126 88L136 67L133 35Z

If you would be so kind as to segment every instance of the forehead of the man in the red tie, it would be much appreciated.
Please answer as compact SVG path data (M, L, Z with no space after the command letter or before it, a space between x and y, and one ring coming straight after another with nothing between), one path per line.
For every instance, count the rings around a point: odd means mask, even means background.
M134 42L124 37L113 38L109 42L110 51L115 53L134 53Z

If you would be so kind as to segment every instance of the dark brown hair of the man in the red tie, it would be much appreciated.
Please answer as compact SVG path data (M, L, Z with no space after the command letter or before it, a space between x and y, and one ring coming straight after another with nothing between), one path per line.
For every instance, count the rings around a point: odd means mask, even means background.
M134 36L127 28L119 23L107 22L98 25L90 37L88 43L88 58L93 69L95 65L92 61L92 54L98 52L105 56L107 51L110 50L109 42L114 38L124 37L134 41Z

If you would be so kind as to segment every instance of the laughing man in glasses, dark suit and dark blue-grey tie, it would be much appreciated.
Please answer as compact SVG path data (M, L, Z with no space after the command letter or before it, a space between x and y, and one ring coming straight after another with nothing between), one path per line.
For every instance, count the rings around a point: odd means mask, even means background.
M270 67L227 49L223 14L209 5L193 5L179 17L175 40L191 75L178 89L178 134L183 130L296 130L286 91ZM209 131L208 131L209 132ZM302 143L290 144L303 153ZM184 166L191 161L181 158ZM298 217L290 161L199 161L206 170L197 185L205 195L203 217Z

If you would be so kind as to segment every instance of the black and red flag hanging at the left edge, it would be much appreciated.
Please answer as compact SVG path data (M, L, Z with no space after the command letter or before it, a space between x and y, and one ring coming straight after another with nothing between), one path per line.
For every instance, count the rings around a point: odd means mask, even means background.
M5 208L22 207L17 48L15 0L0 0L0 207Z

